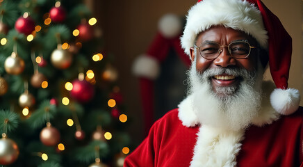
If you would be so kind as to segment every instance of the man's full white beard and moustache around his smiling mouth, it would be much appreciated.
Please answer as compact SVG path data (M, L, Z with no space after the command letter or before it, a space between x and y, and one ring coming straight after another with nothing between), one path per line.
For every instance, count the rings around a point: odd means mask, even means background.
M256 70L258 73L248 72L245 74L239 86L225 86L216 88L214 91L210 77L206 75L222 74L223 69L206 70L203 74L199 74L195 68L195 61L188 72L188 77L190 81L189 94L193 95L193 108L198 121L202 125L232 131L249 127L261 109L262 68L258 67ZM245 73L245 70L242 71ZM224 72L235 75L233 70Z

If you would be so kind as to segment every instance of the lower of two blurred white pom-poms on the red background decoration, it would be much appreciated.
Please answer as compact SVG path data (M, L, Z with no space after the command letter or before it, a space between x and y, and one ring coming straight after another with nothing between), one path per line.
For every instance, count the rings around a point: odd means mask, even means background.
M156 58L140 55L133 63L133 74L137 77L156 79L160 72L160 66Z

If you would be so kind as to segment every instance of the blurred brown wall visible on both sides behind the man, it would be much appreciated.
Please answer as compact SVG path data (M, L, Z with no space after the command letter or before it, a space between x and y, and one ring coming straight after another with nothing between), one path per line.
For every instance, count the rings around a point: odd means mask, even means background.
M302 95L302 1L263 2L281 19L293 37L293 63L290 68L289 86L299 89ZM95 0L93 3L100 21L98 24L104 32L106 51L116 57L115 66L120 72L119 84L124 95L126 112L130 116L131 133L137 136L135 141L142 139L142 113L138 80L131 74L133 60L146 51L156 33L157 22L161 16L165 13L186 15L194 3L194 0Z

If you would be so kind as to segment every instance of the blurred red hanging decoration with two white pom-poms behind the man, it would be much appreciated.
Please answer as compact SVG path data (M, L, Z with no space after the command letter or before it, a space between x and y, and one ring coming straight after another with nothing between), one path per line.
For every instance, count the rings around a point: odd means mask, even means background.
M182 18L166 14L158 21L158 31L147 48L133 63L133 74L140 78L140 96L144 113L145 132L154 122L154 80L158 78L161 63L165 61L170 49L174 49L179 58L190 65L190 59L181 48L180 36L183 30Z

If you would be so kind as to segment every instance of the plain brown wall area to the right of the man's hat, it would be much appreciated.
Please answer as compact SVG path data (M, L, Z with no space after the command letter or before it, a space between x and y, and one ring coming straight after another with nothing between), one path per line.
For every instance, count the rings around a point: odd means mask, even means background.
M281 20L285 29L293 38L293 59L290 66L290 75L288 80L289 88L300 90L301 101L303 105L303 67L302 67L302 1L298 0L263 0L272 13L275 13ZM265 74L266 79L271 79L270 72Z

